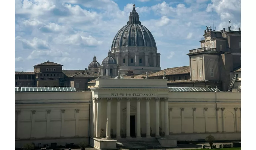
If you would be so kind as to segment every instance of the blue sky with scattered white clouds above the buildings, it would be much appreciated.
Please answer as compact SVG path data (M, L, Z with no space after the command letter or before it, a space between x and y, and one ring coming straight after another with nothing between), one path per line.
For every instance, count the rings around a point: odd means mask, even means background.
M15 71L51 61L85 69L107 57L133 9L155 38L161 70L189 65L206 26L241 27L241 0L15 0Z

